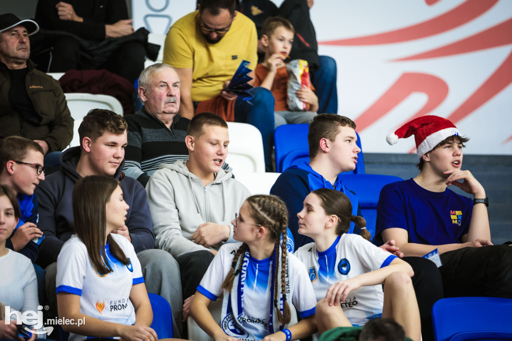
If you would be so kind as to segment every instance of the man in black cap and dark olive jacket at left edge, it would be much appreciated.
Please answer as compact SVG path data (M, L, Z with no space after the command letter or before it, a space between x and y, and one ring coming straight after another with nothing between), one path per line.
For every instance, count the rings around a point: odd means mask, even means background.
M45 165L52 165L55 154L48 153L71 142L73 119L59 83L29 59L29 35L38 30L32 20L0 15L0 139L34 140L45 152Z

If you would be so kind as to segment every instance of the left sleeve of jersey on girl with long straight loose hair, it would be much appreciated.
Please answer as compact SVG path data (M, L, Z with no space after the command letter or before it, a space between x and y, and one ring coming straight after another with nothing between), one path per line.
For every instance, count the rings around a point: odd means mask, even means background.
M82 295L89 257L85 245L66 242L57 257L56 293L67 292Z

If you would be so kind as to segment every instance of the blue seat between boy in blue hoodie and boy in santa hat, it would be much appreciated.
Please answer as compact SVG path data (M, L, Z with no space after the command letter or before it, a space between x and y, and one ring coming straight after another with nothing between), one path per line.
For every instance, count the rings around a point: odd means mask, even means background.
M392 175L377 174L349 174L342 173L342 181L345 186L352 190L359 200L362 217L366 220L366 228L375 237L375 221L377 219L377 202L379 201L380 190L385 185L402 181L402 178Z

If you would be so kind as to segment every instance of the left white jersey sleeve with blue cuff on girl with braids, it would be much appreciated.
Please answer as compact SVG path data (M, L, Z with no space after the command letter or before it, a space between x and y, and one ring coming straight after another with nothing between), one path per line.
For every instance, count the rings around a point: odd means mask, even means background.
M216 301L223 291L222 283L227 273L224 271L224 264L231 264L233 255L229 251L232 246L232 244L221 246L197 287L197 290L211 301Z

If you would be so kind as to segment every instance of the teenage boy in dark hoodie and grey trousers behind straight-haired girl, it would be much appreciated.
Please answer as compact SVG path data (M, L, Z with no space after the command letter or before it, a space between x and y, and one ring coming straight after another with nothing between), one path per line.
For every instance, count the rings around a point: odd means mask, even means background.
M37 190L40 219L44 221L42 231L46 236L40 245L38 264L46 267L46 293L50 303L56 301L55 262L62 246L73 234L75 183L82 177L103 175L119 181L124 201L130 205L125 225L113 233L131 242L140 260L147 290L163 296L173 308L173 323L180 321L178 264L167 252L154 249L155 237L146 191L137 180L122 173L127 144L126 121L110 110L94 109L84 117L78 133L80 146L62 153L61 170L48 176ZM176 336L180 326L175 325Z

